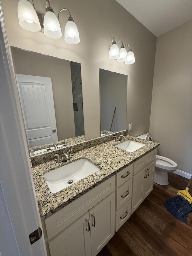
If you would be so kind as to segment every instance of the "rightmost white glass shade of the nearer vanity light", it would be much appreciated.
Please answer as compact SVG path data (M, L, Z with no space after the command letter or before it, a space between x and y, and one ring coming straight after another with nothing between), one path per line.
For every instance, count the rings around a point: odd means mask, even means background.
M68 44L78 44L80 42L79 31L74 21L72 20L67 21L65 25L64 37L65 37L65 42Z

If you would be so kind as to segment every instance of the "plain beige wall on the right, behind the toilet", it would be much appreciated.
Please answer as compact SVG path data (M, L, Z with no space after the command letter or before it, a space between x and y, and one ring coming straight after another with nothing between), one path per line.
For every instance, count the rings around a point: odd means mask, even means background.
M192 174L192 20L157 38L150 133Z

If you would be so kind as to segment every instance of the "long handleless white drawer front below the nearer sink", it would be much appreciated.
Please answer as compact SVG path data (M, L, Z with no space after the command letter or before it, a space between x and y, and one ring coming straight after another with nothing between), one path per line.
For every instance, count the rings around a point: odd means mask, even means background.
M52 239L86 211L115 191L115 176L91 189L72 203L45 219L48 240Z

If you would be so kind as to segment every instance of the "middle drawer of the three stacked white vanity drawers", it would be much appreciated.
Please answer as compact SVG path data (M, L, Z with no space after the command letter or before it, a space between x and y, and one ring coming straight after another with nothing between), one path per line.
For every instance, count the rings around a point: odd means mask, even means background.
M116 211L118 211L132 195L132 178L116 188Z

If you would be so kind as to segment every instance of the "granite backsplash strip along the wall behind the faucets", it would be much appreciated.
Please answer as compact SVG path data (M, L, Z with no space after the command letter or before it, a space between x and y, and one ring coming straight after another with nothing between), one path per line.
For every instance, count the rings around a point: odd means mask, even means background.
M70 149L73 149L73 153L78 152L83 149L88 149L90 147L113 140L113 136L119 136L120 134L124 134L126 136L128 134L128 130L119 131L119 132L115 132L112 134L107 134L105 136L98 137L98 138L91 139L91 140L80 141L80 142L77 142L76 144L64 146L59 149L52 149L47 152L42 152L39 154L32 155L32 156L30 156L32 166L35 167L36 165L43 164L48 161L52 161L52 159L53 159L52 155L54 155L54 154L61 155L61 154L67 153L67 151Z

